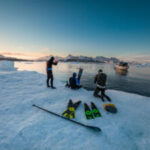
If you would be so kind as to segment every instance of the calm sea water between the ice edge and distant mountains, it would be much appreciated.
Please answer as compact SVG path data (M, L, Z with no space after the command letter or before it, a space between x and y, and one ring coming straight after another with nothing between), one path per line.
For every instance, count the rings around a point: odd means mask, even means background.
M45 62L15 62L18 70L37 71L46 74ZM81 84L88 90L95 88L94 76L99 69L107 74L107 88L136 93L150 97L150 67L137 67L130 65L128 72L120 72L114 69L114 64L106 63L73 63L59 62L53 67L54 78L66 82L73 72L83 68Z

